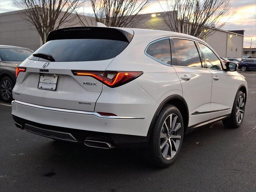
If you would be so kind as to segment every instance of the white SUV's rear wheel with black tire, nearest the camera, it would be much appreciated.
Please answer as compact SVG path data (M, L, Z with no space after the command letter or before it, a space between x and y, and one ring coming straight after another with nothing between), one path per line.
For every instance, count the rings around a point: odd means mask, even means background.
M184 122L178 108L166 105L156 117L151 132L148 156L157 167L168 167L177 158L184 136Z

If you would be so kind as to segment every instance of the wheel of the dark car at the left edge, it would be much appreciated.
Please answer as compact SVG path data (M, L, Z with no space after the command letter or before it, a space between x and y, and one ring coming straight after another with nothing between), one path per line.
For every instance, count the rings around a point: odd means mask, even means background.
M5 76L0 80L0 98L4 102L10 103L12 101L12 89L14 84L11 78Z

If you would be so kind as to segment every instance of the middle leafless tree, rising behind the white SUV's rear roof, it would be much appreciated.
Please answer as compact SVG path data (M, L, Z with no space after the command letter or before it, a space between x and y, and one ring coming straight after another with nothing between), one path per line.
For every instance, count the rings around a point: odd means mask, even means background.
M148 6L151 0L89 0L89 2L96 22L112 27L132 27L143 19L138 14ZM77 15L84 26L93 20L92 16ZM81 17L86 22L82 21Z

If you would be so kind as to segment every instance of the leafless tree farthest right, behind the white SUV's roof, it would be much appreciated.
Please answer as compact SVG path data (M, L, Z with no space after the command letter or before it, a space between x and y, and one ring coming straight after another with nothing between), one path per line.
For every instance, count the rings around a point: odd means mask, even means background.
M163 0L158 0L163 7ZM220 18L233 16L229 0L164 0L164 22L174 32L204 39L226 22Z

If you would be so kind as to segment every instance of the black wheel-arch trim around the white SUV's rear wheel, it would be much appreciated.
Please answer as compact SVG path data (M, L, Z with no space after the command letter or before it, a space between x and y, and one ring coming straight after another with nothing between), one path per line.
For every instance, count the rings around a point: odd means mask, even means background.
M176 106L179 110L180 113L182 114L182 118L184 121L184 132L186 132L186 128L188 127L188 121L189 121L189 112L188 112L188 105L186 103L186 101L184 100L184 98L180 95L172 95L172 96L168 96L167 98L165 98L161 104L158 106L148 129L148 134L147 137L150 137L152 128L154 126L154 122L156 120L156 117L158 116L158 114L160 113L160 111L162 110L162 108L166 105L166 104L172 104L174 106Z

